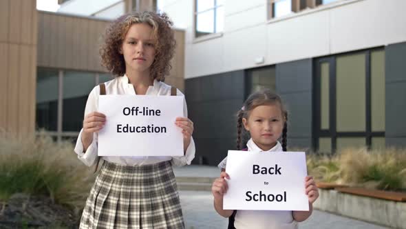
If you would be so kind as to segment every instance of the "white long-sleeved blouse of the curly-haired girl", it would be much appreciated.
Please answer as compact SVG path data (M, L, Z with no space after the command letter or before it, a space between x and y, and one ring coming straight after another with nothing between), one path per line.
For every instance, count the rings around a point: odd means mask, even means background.
M133 85L129 83L129 80L126 75L122 77L116 77L111 81L107 81L105 83L106 87L106 94L134 94L136 95L136 91L133 88ZM167 85L166 83L160 81L153 81L153 86L149 86L147 93L148 95L170 95L171 94L171 86ZM177 90L176 94L178 96L183 96L180 90ZM92 92L89 94L89 98L87 99L86 108L85 108L85 116L91 112L98 110L98 97L100 95L100 87L96 86L93 88ZM183 115L187 117L187 108L186 108L186 100L183 100ZM175 121L175 120L173 120ZM93 141L92 144L87 148L86 152L83 152L83 143L82 143L82 131L79 133L78 139L76 141L76 146L74 151L78 155L78 159L83 161L87 166L92 166L96 162L97 159L97 146L98 146L98 135L96 133L93 134ZM169 161L172 160L172 164L174 166L184 166L186 164L190 165L191 161L195 157L195 142L193 138L191 139L191 143L189 147L186 149L186 154L180 157L105 157L103 156L102 159L105 161L109 161L111 163L118 163L120 165L127 165L127 166L141 166L141 165L149 165L153 163L159 163L162 161Z

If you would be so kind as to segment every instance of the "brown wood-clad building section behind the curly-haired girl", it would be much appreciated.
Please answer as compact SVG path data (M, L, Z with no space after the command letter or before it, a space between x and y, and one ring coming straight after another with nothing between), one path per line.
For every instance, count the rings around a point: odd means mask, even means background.
M36 1L0 0L0 131L23 137L45 130L55 140L75 140L89 92L112 79L100 65L105 28L131 9L153 10L153 2L59 1L60 12L44 12ZM184 91L184 31L174 32L166 82Z

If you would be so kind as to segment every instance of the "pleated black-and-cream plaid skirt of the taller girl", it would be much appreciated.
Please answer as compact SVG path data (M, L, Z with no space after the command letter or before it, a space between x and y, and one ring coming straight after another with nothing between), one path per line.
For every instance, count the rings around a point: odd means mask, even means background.
M121 166L105 161L80 228L184 228L171 163Z

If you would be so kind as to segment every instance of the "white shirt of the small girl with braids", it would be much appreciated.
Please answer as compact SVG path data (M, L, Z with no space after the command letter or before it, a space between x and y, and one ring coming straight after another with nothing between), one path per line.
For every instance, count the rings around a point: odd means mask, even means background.
M282 152L281 143L277 141L276 146L270 150L261 150L250 139L247 142L248 151L254 152ZM226 168L227 157L219 163L219 168ZM297 229L297 221L293 219L292 211L289 210L237 210L234 226L236 229Z

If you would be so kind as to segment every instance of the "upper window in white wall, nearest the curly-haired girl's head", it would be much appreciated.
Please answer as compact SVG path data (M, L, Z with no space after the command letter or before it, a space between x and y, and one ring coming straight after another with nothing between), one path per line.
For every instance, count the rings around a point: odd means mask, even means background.
M195 1L195 37L223 32L224 0Z

